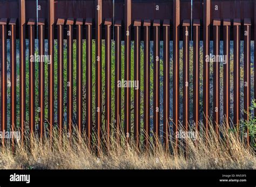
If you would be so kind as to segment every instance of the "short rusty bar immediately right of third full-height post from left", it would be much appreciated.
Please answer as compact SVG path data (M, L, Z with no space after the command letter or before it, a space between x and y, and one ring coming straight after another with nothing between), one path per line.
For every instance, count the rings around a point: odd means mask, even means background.
M111 18L105 19L105 131L107 142L111 132Z

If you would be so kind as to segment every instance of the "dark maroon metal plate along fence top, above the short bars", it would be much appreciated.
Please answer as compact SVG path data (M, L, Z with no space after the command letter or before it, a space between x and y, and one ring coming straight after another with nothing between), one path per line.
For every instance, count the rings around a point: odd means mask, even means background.
M18 0L12 1L0 1L0 18L18 18ZM120 20L122 26L124 26L125 9L124 0L103 0L102 1L102 20L112 19ZM39 0L38 1L38 18L45 19L45 23L48 23L49 16L49 1ZM54 22L57 24L59 18L87 18L92 19L92 38L95 38L95 16L97 11L96 1L54 1ZM233 21L233 19L241 19L242 21L246 18L252 20L254 23L254 1L252 0L211 0L211 25L214 19L220 19L223 21L228 18ZM192 10L192 12L191 12ZM180 0L180 20L185 19L200 19L201 25L203 25L203 0L194 0L191 8L190 0ZM28 22L30 18L37 18L36 1L26 0L25 1L25 20ZM132 24L134 20L151 20L153 24L154 19L160 19L160 23L163 24L164 19L169 19L171 22L171 29L173 25L173 1L171 0L132 0L131 1L131 21ZM19 21L19 20L18 20ZM104 22L103 22L104 23ZM46 24L46 29L48 24ZM153 28L152 28L153 29ZM201 28L202 29L202 28ZM231 28L232 29L232 28ZM104 28L103 28L104 31ZM153 31L153 30L152 30ZM232 30L231 30L232 31ZM55 29L57 33L57 26ZM76 33L76 32L74 32ZM132 32L133 33L133 32ZM151 32L153 33L153 32ZM233 32L231 32L233 33ZM254 33L254 27L252 27L252 33ZM47 32L45 32L45 37L48 38ZM143 34L143 33L142 33ZM172 34L171 34L172 35ZM18 36L17 36L18 37ZM56 34L55 34L56 37ZM64 35L65 37L65 35ZM26 35L28 38L28 35ZM103 33L104 38L104 33ZM113 38L113 37L112 37ZM133 40L133 36L131 36ZM201 38L201 37L200 37ZM57 39L57 38L56 38ZM151 37L153 40L153 35ZM172 38L170 38L172 40ZM202 39L202 38L201 38ZM212 35L211 35L212 39ZM221 38L220 38L221 39ZM231 35L232 39L232 35ZM254 35L252 34L252 39ZM160 38L163 40L163 38ZM182 40L182 37L180 37Z

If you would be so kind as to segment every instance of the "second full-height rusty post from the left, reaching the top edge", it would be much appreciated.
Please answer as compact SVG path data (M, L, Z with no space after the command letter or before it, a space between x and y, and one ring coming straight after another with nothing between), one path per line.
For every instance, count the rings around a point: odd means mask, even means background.
M54 0L48 0L48 123L50 142L52 142L52 129L54 124Z

